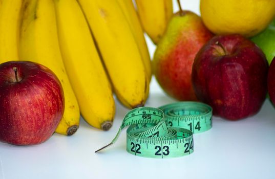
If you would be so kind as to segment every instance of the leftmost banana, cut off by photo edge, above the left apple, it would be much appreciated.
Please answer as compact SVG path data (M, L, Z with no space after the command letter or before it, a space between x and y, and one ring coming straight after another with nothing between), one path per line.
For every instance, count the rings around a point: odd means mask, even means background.
M0 0L0 63L18 60L21 0Z

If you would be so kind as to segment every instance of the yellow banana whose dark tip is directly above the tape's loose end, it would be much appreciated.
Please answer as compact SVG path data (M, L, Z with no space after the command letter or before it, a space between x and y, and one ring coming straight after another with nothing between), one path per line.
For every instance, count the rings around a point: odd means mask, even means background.
M76 0L54 3L60 50L81 116L90 125L109 130L115 103L89 25Z

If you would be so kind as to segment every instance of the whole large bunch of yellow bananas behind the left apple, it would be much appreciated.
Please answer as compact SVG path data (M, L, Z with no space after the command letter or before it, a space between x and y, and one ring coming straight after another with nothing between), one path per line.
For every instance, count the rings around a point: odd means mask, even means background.
M64 89L56 132L73 135L80 114L109 130L115 100L143 106L151 59L132 0L0 0L0 63L28 60L51 69Z

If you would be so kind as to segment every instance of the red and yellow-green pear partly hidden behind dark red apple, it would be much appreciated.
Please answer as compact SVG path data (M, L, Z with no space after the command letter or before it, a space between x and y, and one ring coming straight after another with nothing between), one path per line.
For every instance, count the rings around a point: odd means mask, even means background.
M156 79L164 92L178 100L197 100L191 82L192 64L212 36L191 11L179 11L171 18L153 60Z

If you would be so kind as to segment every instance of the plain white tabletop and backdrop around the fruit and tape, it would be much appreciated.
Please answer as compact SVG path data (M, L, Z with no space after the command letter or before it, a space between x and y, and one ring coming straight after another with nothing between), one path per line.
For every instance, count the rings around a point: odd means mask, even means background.
M198 0L181 3L199 13ZM155 46L146 40L153 55ZM154 77L150 87L146 106L175 102ZM115 137L127 111L116 101L114 125L107 132L81 119L70 137L54 133L35 146L0 142L0 178L275 178L275 109L269 100L250 118L231 122L213 117L213 128L194 136L194 153L188 156L161 160L131 155L125 150L125 130L114 145L94 153Z

